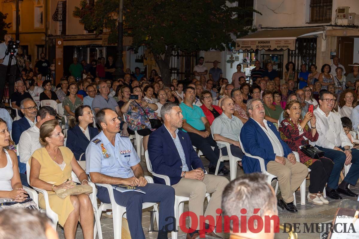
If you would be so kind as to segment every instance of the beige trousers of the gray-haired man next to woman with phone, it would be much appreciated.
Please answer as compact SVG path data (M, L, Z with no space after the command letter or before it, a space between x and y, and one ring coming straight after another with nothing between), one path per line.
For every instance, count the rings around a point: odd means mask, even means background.
M278 185L285 202L293 202L293 193L308 175L308 168L303 163L292 164L288 159L285 165L275 161L267 163L267 172L278 177Z

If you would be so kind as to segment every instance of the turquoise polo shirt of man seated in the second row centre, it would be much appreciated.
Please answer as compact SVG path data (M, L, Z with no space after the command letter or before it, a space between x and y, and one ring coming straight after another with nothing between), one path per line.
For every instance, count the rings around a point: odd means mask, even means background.
M192 105L192 107L187 106L185 103L180 104L182 110L183 119L186 120L187 124L191 125L196 130L204 130L206 127L202 121L202 117L206 117L203 113L203 110L197 105ZM182 129L184 132L186 130Z

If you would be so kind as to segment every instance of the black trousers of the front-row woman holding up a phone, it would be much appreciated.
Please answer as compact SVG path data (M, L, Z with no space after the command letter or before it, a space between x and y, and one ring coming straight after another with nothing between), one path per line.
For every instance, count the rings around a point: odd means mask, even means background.
M308 168L311 169L309 193L323 192L334 163L329 158L320 158Z

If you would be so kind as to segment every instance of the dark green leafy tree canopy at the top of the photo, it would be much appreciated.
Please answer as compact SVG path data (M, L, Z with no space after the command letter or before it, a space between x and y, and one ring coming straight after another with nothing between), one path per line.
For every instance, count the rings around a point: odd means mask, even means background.
M117 43L117 16L119 0L97 0L92 7L81 1L74 16L85 29L97 34L109 30L109 43ZM145 45L154 53L165 53L171 46L183 52L224 50L234 42L232 37L246 35L246 27L253 8L230 7L234 0L124 0L125 35L131 36L133 46ZM257 12L257 11L255 11ZM258 13L258 12L257 12ZM233 35L232 35L233 34Z

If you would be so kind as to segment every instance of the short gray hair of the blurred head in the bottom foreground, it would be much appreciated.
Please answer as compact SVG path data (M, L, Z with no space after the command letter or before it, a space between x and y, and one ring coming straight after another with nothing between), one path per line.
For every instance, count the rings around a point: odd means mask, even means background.
M260 211L253 213L258 208ZM263 173L245 174L230 182L222 194L222 209L223 216L235 216L230 220L231 230L234 221L236 227L238 223L238 228L241 228L241 220L238 220L237 215L246 215L247 218L255 214L260 217L269 214L278 215L277 198L272 187L267 183L267 176ZM242 213L242 209L246 209L247 212ZM274 220L275 218L273 217ZM254 221L254 227L257 227L257 220Z

